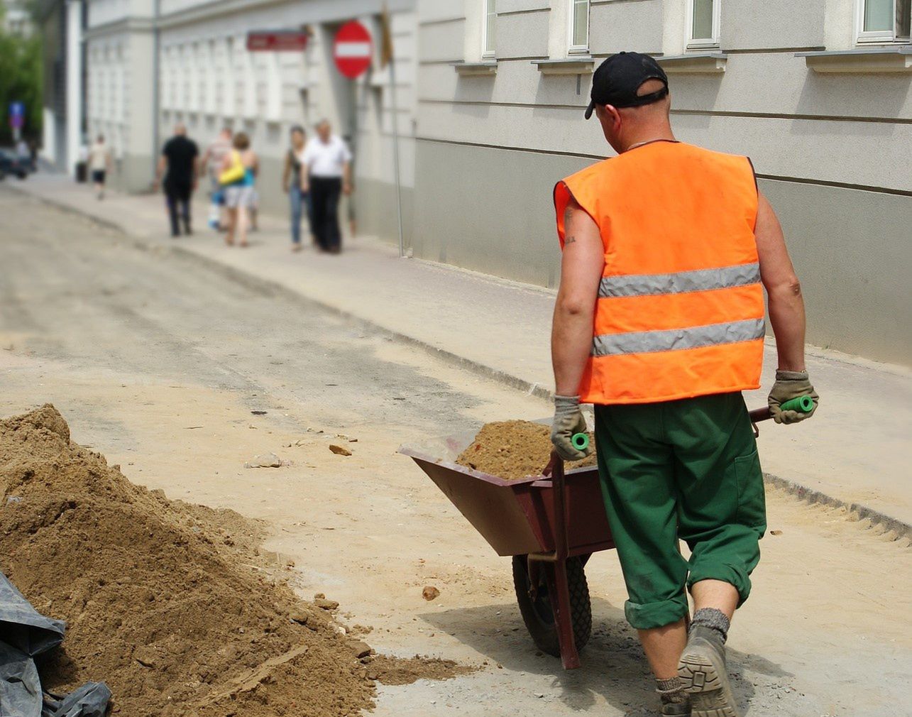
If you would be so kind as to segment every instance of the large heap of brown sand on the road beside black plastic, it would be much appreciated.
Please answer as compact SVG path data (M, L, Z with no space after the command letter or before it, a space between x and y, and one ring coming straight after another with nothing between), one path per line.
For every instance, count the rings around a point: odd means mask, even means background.
M295 596L251 525L130 483L70 442L50 405L0 421L2 569L67 621L62 649L39 663L49 691L106 681L129 717L369 709L382 676L358 659L363 643Z

